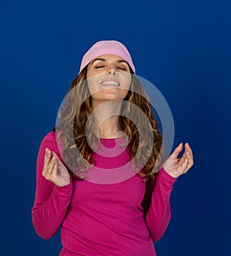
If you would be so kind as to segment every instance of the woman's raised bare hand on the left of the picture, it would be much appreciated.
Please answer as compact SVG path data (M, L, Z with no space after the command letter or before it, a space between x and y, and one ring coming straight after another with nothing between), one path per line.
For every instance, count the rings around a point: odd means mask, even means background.
M53 184L63 187L70 183L70 174L55 152L45 149L42 176Z

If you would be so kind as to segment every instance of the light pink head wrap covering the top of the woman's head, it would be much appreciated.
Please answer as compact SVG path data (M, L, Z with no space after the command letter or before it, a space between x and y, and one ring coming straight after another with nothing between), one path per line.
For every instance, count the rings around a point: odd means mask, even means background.
M95 59L96 57L104 54L113 54L113 55L120 56L123 59L126 59L126 61L129 62L129 65L132 68L133 72L134 73L136 72L135 66L132 63L132 57L130 56L128 49L126 49L126 46L119 41L105 40L105 41L96 42L85 53L85 55L82 58L79 73L82 71L82 69L85 66L89 64L89 62L92 61L92 59Z

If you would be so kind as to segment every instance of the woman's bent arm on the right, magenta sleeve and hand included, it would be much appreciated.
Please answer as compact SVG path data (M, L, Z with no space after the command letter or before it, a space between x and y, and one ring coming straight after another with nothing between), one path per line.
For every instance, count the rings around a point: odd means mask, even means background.
M157 174L156 186L146 214L146 225L154 242L162 237L171 218L169 198L172 185L177 177L187 173L193 165L192 150L189 143L186 143L182 157L177 158L181 151L182 143L179 143L179 146L176 147Z

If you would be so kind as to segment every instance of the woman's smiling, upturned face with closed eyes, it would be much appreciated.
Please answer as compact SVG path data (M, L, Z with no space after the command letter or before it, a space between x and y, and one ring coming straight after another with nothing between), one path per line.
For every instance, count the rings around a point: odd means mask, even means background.
M87 80L93 108L109 100L122 100L131 83L129 64L119 56L98 56L89 63Z

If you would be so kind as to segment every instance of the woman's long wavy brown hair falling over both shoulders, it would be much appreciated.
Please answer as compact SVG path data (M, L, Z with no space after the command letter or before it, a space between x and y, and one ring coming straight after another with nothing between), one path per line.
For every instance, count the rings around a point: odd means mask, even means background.
M91 118L89 121L93 108L92 96L87 83L87 68L88 66L85 66L79 76L73 79L69 93L59 109L57 116L59 121L53 128L57 140L62 142L62 159L68 163L66 167L69 171L76 170L78 167L83 173L79 175L70 171L72 177L77 180L84 179L84 173L94 165L93 150L92 147L89 147L88 141L92 141L92 145L95 147L99 142L99 138L95 134L95 120ZM131 67L129 69L132 79L126 98L122 101L119 126L127 135L126 143L129 146L133 166L136 166L136 161L142 164L142 173L137 172L137 174L145 177L144 181L147 181L149 177L155 179L156 170L159 170L162 163L163 155L160 153L163 147L162 131L152 113L148 96L142 84ZM137 111L136 106L140 111ZM149 120L148 123L144 120L146 118ZM89 129L90 133L86 134L86 129ZM142 136L139 135L139 131L142 131Z

